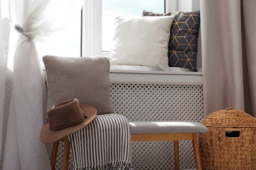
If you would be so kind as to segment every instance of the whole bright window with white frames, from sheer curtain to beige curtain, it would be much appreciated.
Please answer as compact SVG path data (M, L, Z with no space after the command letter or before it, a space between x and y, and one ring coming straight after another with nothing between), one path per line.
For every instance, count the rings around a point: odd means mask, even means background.
M199 1L84 0L83 16L81 10L77 10L72 22L66 24L61 31L56 31L51 41L36 43L39 58L45 55L108 56L112 44L114 15L142 16L142 10L154 12L198 10Z

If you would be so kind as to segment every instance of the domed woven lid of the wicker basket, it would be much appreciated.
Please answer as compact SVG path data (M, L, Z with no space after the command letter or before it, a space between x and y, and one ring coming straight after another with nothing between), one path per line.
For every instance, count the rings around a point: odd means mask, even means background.
M256 118L230 107L209 114L200 123L208 127L256 127Z

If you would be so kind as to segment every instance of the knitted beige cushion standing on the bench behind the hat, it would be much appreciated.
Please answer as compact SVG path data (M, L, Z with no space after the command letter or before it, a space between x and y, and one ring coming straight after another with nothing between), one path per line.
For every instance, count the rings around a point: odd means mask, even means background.
M44 56L43 62L47 75L47 108L77 98L80 104L95 107L98 114L113 112L108 58Z

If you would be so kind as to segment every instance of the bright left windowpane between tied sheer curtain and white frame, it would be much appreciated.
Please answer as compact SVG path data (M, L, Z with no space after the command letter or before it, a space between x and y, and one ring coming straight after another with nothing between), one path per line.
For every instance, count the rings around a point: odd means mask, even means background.
M75 5L78 10L72 12L72 16L70 16L72 19L66 18L66 16L58 16L58 14L63 14L61 10L66 9L55 7L53 16L63 19L58 20L60 25L57 26L59 29L46 37L46 42L36 42L40 59L45 55L81 56L81 3L77 1Z

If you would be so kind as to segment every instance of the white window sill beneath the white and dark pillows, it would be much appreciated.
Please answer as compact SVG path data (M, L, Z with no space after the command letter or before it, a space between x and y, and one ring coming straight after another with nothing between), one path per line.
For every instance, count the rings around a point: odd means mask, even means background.
M110 65L110 80L116 84L184 84L202 85L202 71L169 67L163 71L158 67L135 65Z

